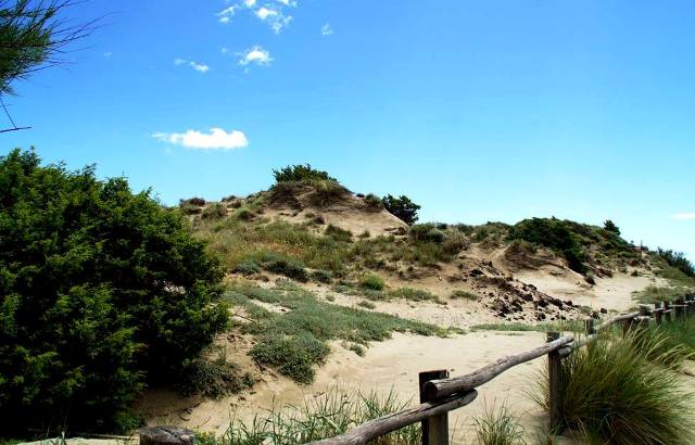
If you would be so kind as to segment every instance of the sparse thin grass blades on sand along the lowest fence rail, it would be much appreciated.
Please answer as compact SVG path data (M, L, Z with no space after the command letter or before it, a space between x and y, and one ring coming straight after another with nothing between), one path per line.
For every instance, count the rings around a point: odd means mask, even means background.
M408 406L409 402L400 400L393 392L379 395L334 386L319 397L305 399L303 405L273 407L250 423L235 421L220 436L198 433L195 442L200 445L305 444L343 434L355 425ZM374 443L420 444L420 425L405 427Z

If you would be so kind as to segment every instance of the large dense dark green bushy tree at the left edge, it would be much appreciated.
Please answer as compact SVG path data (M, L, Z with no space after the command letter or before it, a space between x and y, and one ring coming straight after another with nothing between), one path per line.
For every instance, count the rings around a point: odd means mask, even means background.
M222 271L174 209L93 167L0 157L2 433L128 427L227 325Z

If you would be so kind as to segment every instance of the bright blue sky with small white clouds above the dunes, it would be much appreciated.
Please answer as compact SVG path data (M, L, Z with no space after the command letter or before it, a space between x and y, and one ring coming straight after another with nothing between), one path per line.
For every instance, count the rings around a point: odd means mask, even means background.
M311 163L421 219L614 219L695 259L692 1L90 0L17 84L5 153L173 204ZM3 127L7 125L3 125ZM215 129L214 131L212 129Z

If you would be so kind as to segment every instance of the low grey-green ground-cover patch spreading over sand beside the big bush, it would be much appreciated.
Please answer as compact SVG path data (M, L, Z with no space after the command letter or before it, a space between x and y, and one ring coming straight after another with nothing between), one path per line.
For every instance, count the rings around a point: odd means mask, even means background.
M448 332L433 325L319 301L289 281L275 289L238 285L227 292L226 298L253 320L242 326L244 332L256 336L257 343L251 351L253 358L301 383L314 380L314 366L325 361L330 340L366 346L368 342L391 338L394 331L441 336ZM254 301L289 310L273 313Z

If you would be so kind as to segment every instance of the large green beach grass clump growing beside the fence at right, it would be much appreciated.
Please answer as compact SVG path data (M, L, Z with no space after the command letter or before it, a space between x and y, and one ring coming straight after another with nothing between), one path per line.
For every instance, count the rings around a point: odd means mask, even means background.
M605 335L561 361L564 424L586 438L611 444L692 444L693 396L682 377L634 347ZM539 402L548 408L548 379L542 376Z

